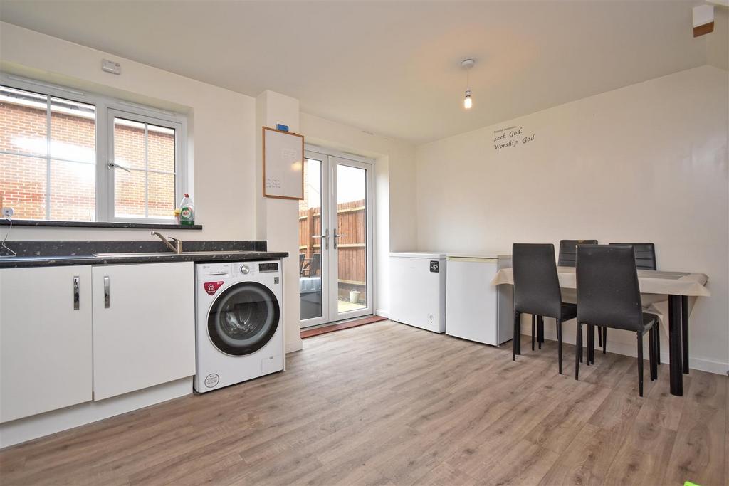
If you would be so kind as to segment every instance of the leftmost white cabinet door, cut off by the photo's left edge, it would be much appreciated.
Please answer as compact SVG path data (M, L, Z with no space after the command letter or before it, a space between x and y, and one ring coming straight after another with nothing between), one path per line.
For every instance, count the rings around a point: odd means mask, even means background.
M91 364L91 267L0 270L0 422L90 401Z

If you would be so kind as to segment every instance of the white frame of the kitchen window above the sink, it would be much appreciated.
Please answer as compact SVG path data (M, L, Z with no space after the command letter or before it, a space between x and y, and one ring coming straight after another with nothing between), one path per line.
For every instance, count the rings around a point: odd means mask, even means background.
M175 132L175 205L182 200L184 192L192 194L187 161L187 117L184 114L156 109L130 103L105 95L87 93L69 87L53 85L47 82L18 77L11 74L0 74L0 85L17 90L26 90L39 95L63 98L79 103L95 106L95 144L96 144L96 211L94 222L125 222L142 224L176 224L174 219L152 218L117 218L114 216L114 170L109 167L113 160L114 116L147 122L166 128L174 128ZM50 134L48 134L50 136ZM24 156L27 154L17 154ZM50 188L47 188L47 191ZM55 221L42 219L39 221Z

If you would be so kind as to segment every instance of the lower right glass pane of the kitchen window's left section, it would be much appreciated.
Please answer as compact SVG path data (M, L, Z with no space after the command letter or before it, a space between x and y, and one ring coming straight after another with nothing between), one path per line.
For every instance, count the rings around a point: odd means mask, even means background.
M51 160L50 219L95 221L95 181L94 164Z

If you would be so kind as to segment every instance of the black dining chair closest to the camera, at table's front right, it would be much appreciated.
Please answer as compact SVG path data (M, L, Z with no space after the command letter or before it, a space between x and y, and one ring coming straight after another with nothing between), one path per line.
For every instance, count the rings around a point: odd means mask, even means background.
M658 377L658 315L643 312L638 272L632 246L580 245L577 247L577 349L574 379L580 376L582 326L588 326L588 359L595 326L625 329L638 340L638 390L643 396L643 334L649 333L650 379Z

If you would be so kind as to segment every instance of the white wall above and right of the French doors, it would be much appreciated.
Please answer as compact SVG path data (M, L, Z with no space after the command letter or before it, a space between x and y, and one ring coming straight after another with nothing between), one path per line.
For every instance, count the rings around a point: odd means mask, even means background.
M375 159L375 313L389 315L389 252L417 245L415 147L311 114L301 114L308 144Z

